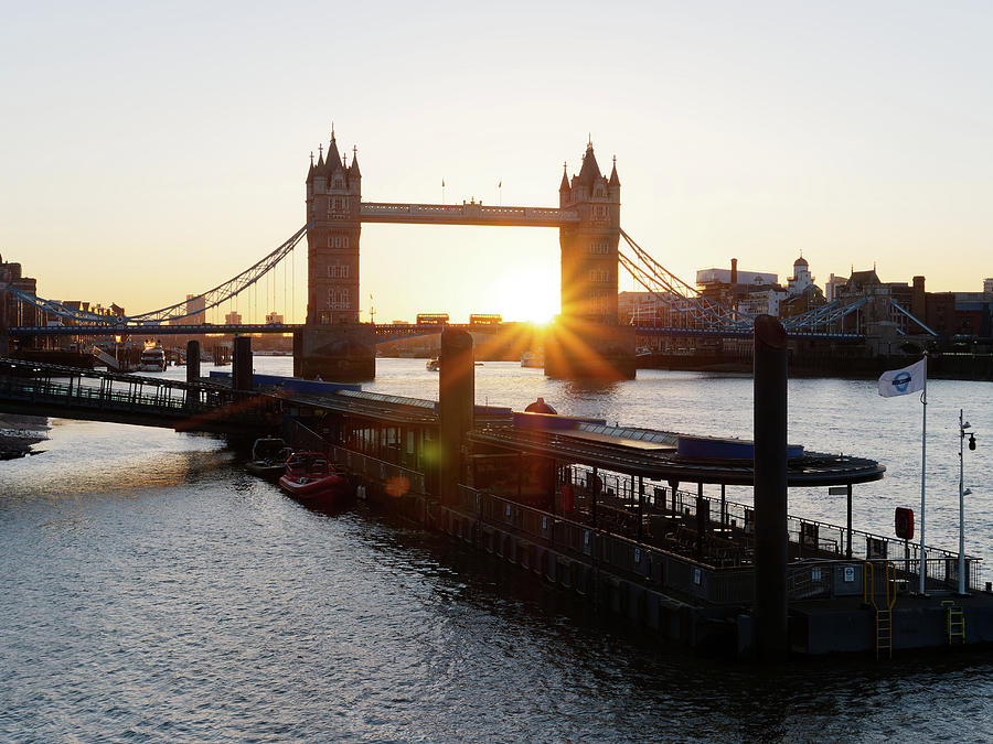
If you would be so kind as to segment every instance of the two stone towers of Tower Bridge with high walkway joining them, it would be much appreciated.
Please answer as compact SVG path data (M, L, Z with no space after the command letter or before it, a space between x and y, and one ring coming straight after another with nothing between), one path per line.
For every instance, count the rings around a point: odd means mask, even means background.
M362 202L359 155L334 130L307 173L307 327L295 344L297 374L329 379L375 375L374 332L359 323L362 224L558 228L562 314L545 342L545 370L563 377L633 377L634 328L618 323L620 179L600 172L592 141L579 173L563 166L558 207Z

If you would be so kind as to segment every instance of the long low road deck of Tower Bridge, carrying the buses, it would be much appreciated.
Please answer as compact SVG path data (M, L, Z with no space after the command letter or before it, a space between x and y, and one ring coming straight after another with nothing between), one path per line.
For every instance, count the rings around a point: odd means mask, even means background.
M376 343L397 341L401 338L414 338L441 333L444 327L471 331L473 333L499 333L505 326L500 325L448 323L437 324L403 324L383 323L375 326ZM516 325L516 324L513 324ZM303 324L297 323L242 323L242 324L213 324L201 323L197 325L162 325L158 323L145 323L132 325L35 325L12 326L9 333L12 337L29 336L164 336L164 335L210 335L210 334L255 334L255 333L282 333L290 334L303 330ZM672 338L751 338L751 328L680 328L637 326L634 333L638 336L665 336ZM818 333L812 331L787 331L787 337L796 341L845 341L864 342L864 334L855 333Z

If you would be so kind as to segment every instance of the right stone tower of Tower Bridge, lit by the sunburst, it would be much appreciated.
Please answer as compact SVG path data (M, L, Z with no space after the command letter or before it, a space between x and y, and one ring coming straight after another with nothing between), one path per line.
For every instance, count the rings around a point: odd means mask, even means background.
M552 377L634 377L634 328L618 325L620 179L600 173L592 142L579 174L563 172L558 205L579 216L559 228L562 315L545 344Z

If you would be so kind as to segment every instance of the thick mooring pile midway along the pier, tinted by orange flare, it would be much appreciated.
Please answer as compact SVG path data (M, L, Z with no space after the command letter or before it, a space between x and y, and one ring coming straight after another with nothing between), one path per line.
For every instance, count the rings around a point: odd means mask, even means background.
M476 362L468 331L445 328L438 357L438 418L441 435L438 468L440 498L458 503L466 434L473 427Z

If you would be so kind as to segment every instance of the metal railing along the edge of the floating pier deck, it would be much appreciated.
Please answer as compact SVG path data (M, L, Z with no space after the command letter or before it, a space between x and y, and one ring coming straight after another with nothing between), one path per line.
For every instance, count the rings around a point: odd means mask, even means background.
M424 473L333 444L297 420L288 422L287 439L297 448L325 453L332 461L351 472L387 487L387 493L429 496ZM577 482L575 484L577 490L585 487L584 483L579 483L585 478L577 477L580 468L566 470L570 473L569 482ZM616 484L616 481L609 479L610 474L607 475L607 481ZM401 487L388 492L391 484L394 486L399 484ZM660 490L652 490L650 499L647 493L645 503L642 505L642 516L671 514L672 490L661 489L661 486L654 484L647 484L647 492L649 492L649 485L652 488L659 487ZM630 488L624 486L621 494L630 498ZM581 497L581 494L579 496ZM680 515L695 517L696 494L676 490L674 497L675 509ZM715 514L718 518L712 520L711 524L722 524L719 502L707 497L704 497L704 500L717 503L717 508L709 509L709 514ZM744 510L749 509L750 511L750 507L741 504L725 502L726 511L723 524L736 522L734 528L736 554L735 560L728 565L714 565L697 557L686 554L698 544L695 535L688 535L688 539L684 543L675 540L666 543L666 547L661 547L638 540L632 535L611 531L611 527L616 527L616 524L607 527L599 524L594 526L585 520L584 515L578 510L572 515L564 515L560 510L553 514L520 504L511 497L496 496L466 485L459 486L458 502L452 506L457 510L479 519L482 525L490 528L495 528L504 533L513 533L534 544L555 550L589 568L608 570L610 573L632 582L664 587L717 605L747 604L754 597L755 570L751 562L754 556L750 552L754 542L745 529L744 519ZM733 515L740 515L740 517ZM739 518L741 521L737 522ZM797 522L801 525L822 524L811 520L797 520ZM750 526L750 524L749 520L748 525ZM652 537L650 520L642 525L642 529L647 539ZM835 527L834 529L841 530L842 528ZM800 528L798 535L810 541L813 532L809 528ZM859 535L875 537L864 532L859 532ZM826 542L821 540L820 531L816 532L816 540L821 548L826 546L830 550L822 550L820 556L794 554L794 559L787 567L789 600L798 602L862 594L864 587L861 565L865 562L864 556L852 559L843 558L836 552L831 540ZM669 549L670 547L672 549ZM681 549L686 552L680 552ZM793 544L793 549L796 553L796 544ZM958 586L957 557L948 551L941 552L940 558L930 557L926 561L927 591L929 592L950 592ZM714 554L712 551L708 557L712 559ZM916 586L919 560L912 557L906 560L894 557L876 557L871 560L874 563L895 563L896 582L903 591L909 591ZM982 586L979 568L978 559L970 558L967 568L969 571L967 585L973 591L980 591Z

